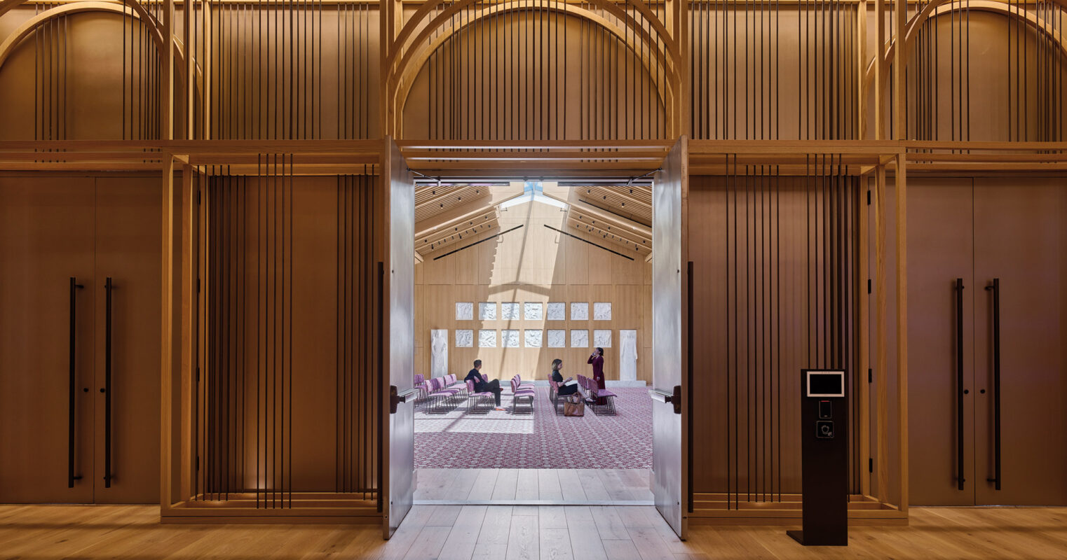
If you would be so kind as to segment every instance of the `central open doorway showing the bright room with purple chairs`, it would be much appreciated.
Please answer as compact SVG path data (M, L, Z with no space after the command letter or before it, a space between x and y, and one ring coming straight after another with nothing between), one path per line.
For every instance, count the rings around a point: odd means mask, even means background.
M416 185L416 504L653 504L651 220L647 182Z

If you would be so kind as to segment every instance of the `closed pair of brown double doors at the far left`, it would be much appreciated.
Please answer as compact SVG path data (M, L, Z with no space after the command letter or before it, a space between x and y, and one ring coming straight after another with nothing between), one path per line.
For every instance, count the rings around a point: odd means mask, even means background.
M3 348L9 365L0 370L3 419L11 428L0 432L0 448L10 458L0 467L0 499L158 499L158 176L0 178L6 228L0 251L3 306L10 310L0 328L2 344L13 345ZM73 325L71 277L81 285L74 296ZM113 285L110 352L108 277ZM112 476L106 482L109 437ZM70 439L74 475L80 479L68 488Z

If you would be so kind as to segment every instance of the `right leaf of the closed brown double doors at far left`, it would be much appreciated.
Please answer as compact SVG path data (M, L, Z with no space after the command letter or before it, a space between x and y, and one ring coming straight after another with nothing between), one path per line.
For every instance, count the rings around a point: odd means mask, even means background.
M97 504L159 501L159 181L96 180Z

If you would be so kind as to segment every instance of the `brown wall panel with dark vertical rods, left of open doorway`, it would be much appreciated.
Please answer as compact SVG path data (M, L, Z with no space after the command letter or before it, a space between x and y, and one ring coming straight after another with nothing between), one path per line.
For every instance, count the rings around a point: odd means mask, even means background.
M216 176L202 192L202 467L189 505L373 499L378 180L293 177L288 155L269 161L270 175Z

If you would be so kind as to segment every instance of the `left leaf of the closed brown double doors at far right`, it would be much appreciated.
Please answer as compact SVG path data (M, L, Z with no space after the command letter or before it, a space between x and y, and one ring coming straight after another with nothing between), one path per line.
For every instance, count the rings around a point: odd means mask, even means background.
M973 325L982 289L973 280L972 201L970 179L908 181L909 501L917 506L974 504Z

